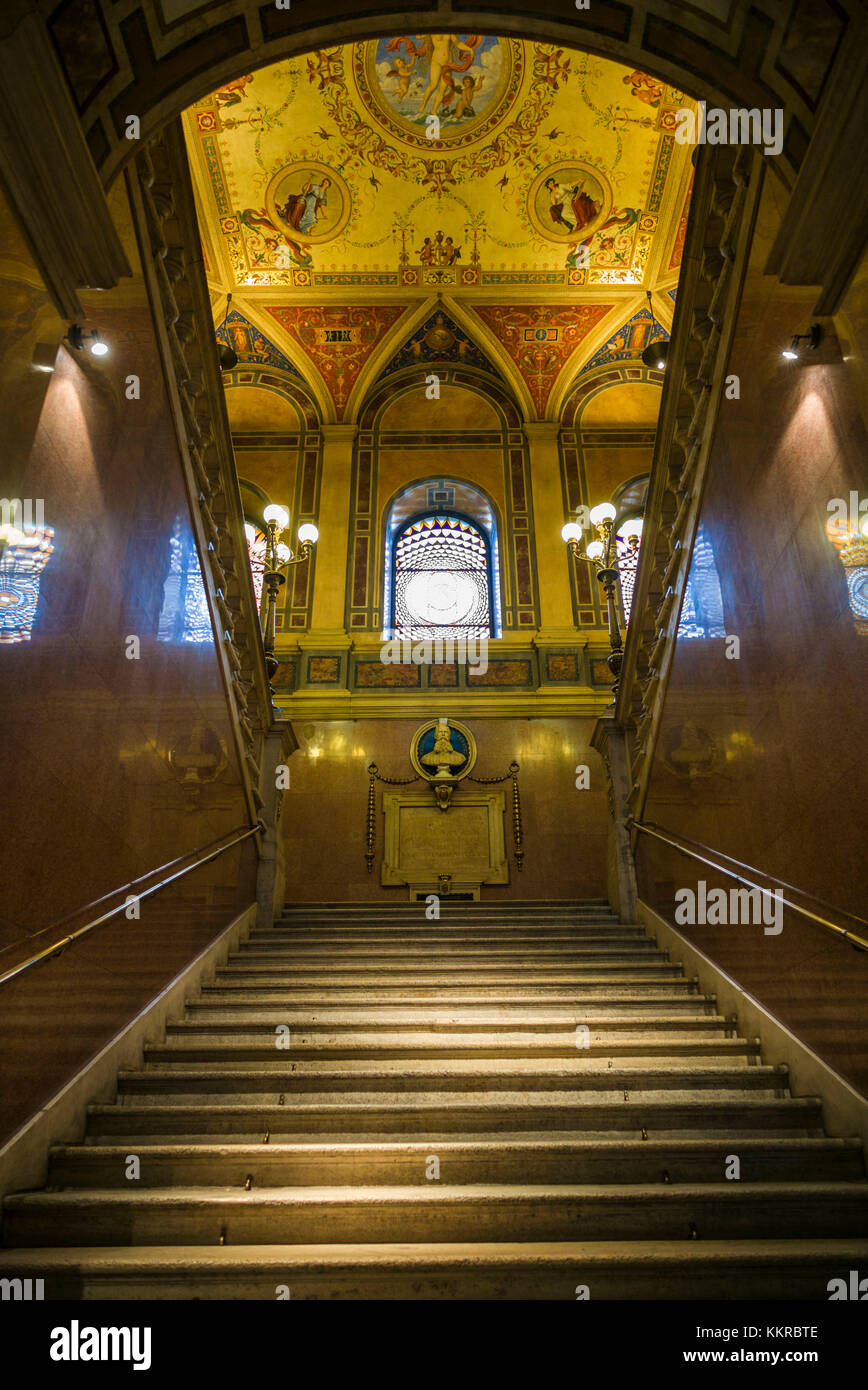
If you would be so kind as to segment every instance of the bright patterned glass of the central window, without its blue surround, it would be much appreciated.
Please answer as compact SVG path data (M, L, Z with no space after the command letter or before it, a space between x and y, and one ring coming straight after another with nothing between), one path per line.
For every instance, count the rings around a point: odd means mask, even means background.
M430 514L395 538L394 635L477 638L491 635L488 545L470 521Z

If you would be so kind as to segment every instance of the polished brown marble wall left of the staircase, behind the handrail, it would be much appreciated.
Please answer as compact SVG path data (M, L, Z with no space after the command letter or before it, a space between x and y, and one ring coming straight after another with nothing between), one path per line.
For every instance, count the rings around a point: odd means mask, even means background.
M122 185L113 200L125 225ZM88 296L111 349L97 360L61 345L65 325L19 264L43 321L0 364L15 441L6 495L42 502L53 552L29 624L14 626L8 552L0 569L0 972L97 916L95 899L248 819L207 609L172 595L172 549L189 555L193 599L199 567L140 277ZM49 338L53 371L38 373L28 335ZM191 619L204 619L202 641L188 639ZM196 759L218 773L198 791L182 785ZM253 867L248 844L0 986L0 1138L252 901Z

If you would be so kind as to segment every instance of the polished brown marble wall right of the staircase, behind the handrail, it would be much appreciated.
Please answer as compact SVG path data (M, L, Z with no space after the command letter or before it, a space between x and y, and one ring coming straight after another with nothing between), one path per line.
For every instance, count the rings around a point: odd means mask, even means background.
M778 200L769 178L729 364L740 399L722 403L702 505L739 655L723 638L679 641L644 819L868 917L868 631L828 534L832 499L868 499L864 275L843 306L843 360L829 342L815 364L783 360L815 295L762 274ZM712 880L648 840L641 860L644 895L664 908ZM796 916L780 935L683 930L868 1091L867 954Z

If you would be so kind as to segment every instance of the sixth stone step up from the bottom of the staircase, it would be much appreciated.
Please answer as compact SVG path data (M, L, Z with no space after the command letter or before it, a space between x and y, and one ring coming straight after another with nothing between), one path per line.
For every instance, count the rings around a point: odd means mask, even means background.
M216 1066L246 1065L248 1062L275 1062L287 1051L277 1049L278 1034L274 1029L235 1034L227 1038L224 1029L179 1034L175 1026L166 1042L153 1042L145 1048L147 1065L163 1066L170 1062L213 1062ZM623 1034L602 1036L597 1030L587 1038L587 1052L594 1058L690 1058L697 1066L714 1065L715 1061L736 1063L747 1062L760 1055L760 1044L746 1038L690 1037L661 1033L643 1033L637 1037ZM309 1036L305 1026L289 1029L292 1058L303 1056L313 1061L424 1061L427 1058L453 1059L495 1059L495 1058L573 1058L586 1051L577 1047L576 1030L572 1033L492 1036L490 1033L455 1033L440 1037L428 1033L363 1033L352 1031L339 1037L327 1034ZM278 1063L280 1065L280 1063Z

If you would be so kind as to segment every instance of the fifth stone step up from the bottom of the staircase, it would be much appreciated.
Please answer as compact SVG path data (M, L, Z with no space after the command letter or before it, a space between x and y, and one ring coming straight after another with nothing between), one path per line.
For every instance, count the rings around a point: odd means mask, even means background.
M118 1072L118 1095L163 1095L168 1099L181 1094L225 1093L238 1097L302 1093L348 1093L356 1098L389 1093L405 1094L466 1093L495 1094L523 1093L594 1093L609 1095L634 1091L765 1091L780 1094L789 1088L786 1066L721 1066L714 1062L697 1066L693 1058L683 1062L648 1063L637 1059L632 1066L620 1062L606 1065L605 1058L569 1059L534 1058L526 1062L512 1059L444 1059L437 1062L349 1061L341 1066L287 1056L273 1062L257 1062L246 1068L232 1066L145 1066Z

